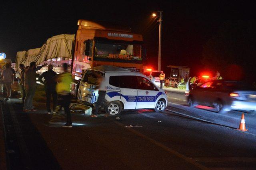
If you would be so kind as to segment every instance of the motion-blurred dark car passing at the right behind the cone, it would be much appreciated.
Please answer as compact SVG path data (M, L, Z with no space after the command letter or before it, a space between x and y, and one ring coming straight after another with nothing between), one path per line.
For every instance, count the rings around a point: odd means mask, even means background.
M218 113L256 111L256 90L244 82L209 80L201 86L192 87L188 105L215 107Z

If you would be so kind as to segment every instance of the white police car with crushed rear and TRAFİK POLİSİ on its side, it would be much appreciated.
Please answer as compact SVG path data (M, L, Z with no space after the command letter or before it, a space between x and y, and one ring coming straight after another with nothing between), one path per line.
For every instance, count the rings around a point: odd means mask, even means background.
M93 104L98 99L96 74L104 77L107 104L105 111L116 115L125 109L155 109L164 111L167 96L149 78L139 72L115 66L97 66L87 69L80 81L78 100ZM114 108L114 109L113 109Z

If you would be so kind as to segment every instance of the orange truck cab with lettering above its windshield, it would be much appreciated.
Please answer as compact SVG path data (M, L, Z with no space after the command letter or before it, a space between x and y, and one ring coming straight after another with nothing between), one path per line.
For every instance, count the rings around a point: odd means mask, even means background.
M126 27L78 20L72 59L72 94L76 95L78 82L87 68L112 65L143 72L146 51L142 35L131 33Z

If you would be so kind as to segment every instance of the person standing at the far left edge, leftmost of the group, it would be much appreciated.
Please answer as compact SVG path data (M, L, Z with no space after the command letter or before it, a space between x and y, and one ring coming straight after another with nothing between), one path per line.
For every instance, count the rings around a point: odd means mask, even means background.
M5 64L5 69L2 70L0 77L3 79L3 83L6 88L6 99L5 100L9 100L10 93L11 93L11 85L13 84L13 80L14 80L13 72L10 69L9 63Z

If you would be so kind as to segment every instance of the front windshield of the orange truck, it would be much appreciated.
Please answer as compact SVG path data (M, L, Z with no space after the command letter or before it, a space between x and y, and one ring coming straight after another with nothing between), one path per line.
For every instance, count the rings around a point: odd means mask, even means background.
M141 45L96 41L94 57L140 61Z

